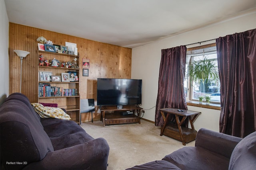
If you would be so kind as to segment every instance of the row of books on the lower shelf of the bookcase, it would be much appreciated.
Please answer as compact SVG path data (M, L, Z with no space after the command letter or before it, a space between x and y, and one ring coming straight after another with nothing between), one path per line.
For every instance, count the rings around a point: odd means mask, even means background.
M67 89L62 87L51 86L50 83L39 83L38 97L62 97L78 96L77 89Z

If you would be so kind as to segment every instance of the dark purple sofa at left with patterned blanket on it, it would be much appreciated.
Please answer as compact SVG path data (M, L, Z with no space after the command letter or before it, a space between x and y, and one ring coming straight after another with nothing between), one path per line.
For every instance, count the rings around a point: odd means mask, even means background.
M109 146L74 121L45 118L20 93L0 106L1 170L106 170Z

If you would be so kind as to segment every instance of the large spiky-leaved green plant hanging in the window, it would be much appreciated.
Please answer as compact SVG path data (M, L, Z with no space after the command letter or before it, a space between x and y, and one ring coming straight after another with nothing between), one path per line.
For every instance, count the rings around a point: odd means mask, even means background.
M204 55L203 57L203 60L193 61L190 64L188 74L190 76L190 84L198 82L200 84L200 91L207 92L208 80L216 81L219 74L216 62L214 60L207 59Z

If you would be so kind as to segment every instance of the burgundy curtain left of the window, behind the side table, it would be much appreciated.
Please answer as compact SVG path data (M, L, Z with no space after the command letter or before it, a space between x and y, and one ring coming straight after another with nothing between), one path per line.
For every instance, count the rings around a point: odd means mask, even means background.
M186 51L186 46L162 49L158 80L158 96L156 100L156 126L161 126L164 123L162 115L158 109L166 107L187 109L184 92ZM175 120L172 116L169 118L170 121Z

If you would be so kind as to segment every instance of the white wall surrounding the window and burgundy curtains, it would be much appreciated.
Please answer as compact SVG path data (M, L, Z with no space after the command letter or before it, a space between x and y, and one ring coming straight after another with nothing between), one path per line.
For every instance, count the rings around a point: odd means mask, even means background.
M143 118L154 121L156 109L154 106L156 106L158 92L161 49L216 39L218 37L224 37L229 34L244 32L255 28L256 9L254 8L239 16L233 16L233 18L209 25L202 29L188 31L132 49L132 78L142 79L141 107L145 109ZM214 42L215 41L208 41L207 43L201 43L201 45ZM190 45L187 46L187 48L196 46L199 46L199 44ZM188 109L202 112L194 123L195 129L198 130L201 127L205 127L207 129L219 131L220 110L193 106L188 106Z

